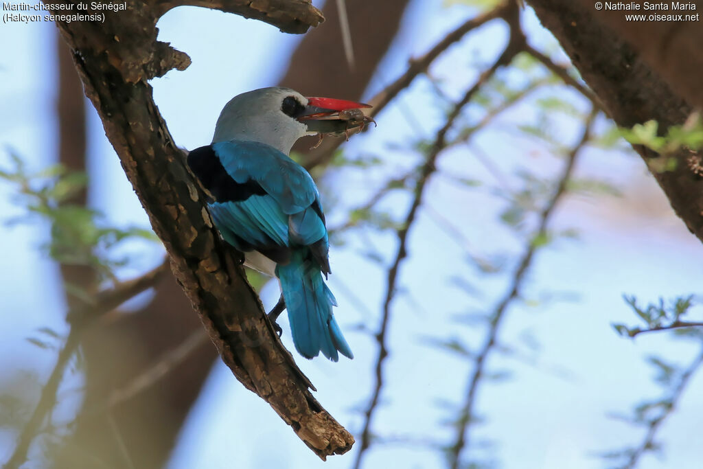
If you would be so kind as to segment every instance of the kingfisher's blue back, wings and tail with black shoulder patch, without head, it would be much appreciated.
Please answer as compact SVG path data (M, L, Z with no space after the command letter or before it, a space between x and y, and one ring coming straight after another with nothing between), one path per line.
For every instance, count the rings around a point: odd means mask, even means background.
M307 358L352 358L322 278L330 272L325 214L307 171L276 148L236 140L196 148L188 165L214 195L209 208L225 240L277 263L296 349Z

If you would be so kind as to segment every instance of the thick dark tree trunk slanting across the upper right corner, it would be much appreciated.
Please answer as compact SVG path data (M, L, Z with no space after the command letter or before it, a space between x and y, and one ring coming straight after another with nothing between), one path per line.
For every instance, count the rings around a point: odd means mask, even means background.
M657 37L654 30L679 23L646 22L617 30L616 12L598 13L587 0L531 0L542 24L560 41L588 86L598 95L614 121L622 127L656 120L660 131L683 124L700 98L703 63L690 56L681 34ZM700 3L700 2L698 2ZM624 15L625 12L617 12ZM694 37L702 29L699 23ZM640 41L643 27L650 39ZM632 40L633 42L629 42ZM701 44L700 42L698 44ZM681 49L678 49L681 47ZM676 70L687 73L677 75ZM667 77L671 77L671 81ZM696 86L685 86L693 80ZM703 153L683 149L673 155L659 155L643 146L633 146L652 169L654 178L669 198L673 210L691 233L703 241ZM671 171L658 171L662 158L675 158Z

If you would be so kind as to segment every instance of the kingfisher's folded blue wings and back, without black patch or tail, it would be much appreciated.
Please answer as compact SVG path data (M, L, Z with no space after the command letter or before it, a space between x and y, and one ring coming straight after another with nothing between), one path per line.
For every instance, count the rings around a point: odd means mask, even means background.
M309 246L329 271L328 236L319 194L307 171L265 143L228 141L212 145L236 184L259 184L262 194L209 205L217 228L239 250L259 250L287 262L290 249Z

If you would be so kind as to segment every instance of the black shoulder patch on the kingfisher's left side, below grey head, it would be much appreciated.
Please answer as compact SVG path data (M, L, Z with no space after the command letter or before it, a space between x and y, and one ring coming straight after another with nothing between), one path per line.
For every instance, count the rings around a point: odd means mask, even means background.
M188 166L217 202L239 202L252 195L266 194L257 181L250 179L239 184L232 179L215 155L212 145L201 146L188 153Z

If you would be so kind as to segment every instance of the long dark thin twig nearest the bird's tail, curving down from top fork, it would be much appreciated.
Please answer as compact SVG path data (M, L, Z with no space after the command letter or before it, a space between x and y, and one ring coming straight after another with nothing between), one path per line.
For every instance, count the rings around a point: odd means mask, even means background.
M432 176L432 174L434 174L434 172L437 170L436 164L439 154L442 150L444 150L444 148L446 148L446 145L448 143L446 139L447 133L449 132L451 127L453 127L453 124L460 116L463 108L465 108L465 106L470 103L477 91L479 91L481 86L491 76L494 75L498 68L500 68L502 65L507 65L508 63L510 63L510 60L512 60L517 51L518 48L516 44L513 41L510 41L508 46L505 48L505 51L501 53L501 56L498 57L496 62L481 74L479 79L477 79L477 82L475 82L475 84L471 86L471 88L466 92L463 98L458 103L456 103L456 105L454 105L453 109L451 110L451 113L449 114L449 117L447 117L444 126L442 126L441 129L439 129L439 131L437 132L437 136L434 139L434 143L430 148L430 152L428 153L427 159L425 160L425 164L423 165L423 168L420 172L420 177L417 181L417 184L415 185L415 196L413 198L413 202L411 204L410 209L408 210L408 214L406 214L405 221L402 224L402 228L399 229L397 233L398 251L396 253L395 260L388 271L386 296L385 302L383 304L381 324L378 333L376 333L375 335L375 338L378 342L378 358L376 359L375 364L375 385L369 404L366 407L366 411L364 412L363 430L361 432L361 445L359 448L359 452L356 454L356 461L354 463L355 469L359 469L361 467L361 461L363 459L363 456L371 443L370 428L375 410L378 407L381 389L383 387L383 363L386 357L388 356L388 349L386 347L385 338L390 319L391 304L396 294L396 283L398 280L399 269L401 263L407 255L406 243L408 239L408 231L410 231L411 226L413 226L413 222L415 221L415 216L418 212L418 208L423 202L425 187L427 186L427 182L430 180L430 176Z

